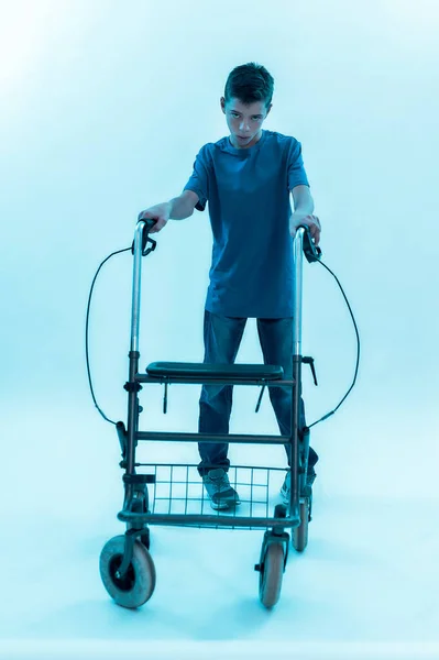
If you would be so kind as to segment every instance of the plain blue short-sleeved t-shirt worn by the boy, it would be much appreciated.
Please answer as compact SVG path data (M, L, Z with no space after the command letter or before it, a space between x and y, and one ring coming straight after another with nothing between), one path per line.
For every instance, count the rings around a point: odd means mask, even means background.
M213 233L206 309L228 317L293 316L290 190L309 186L300 143L275 131L249 148L205 144L185 190L209 201Z

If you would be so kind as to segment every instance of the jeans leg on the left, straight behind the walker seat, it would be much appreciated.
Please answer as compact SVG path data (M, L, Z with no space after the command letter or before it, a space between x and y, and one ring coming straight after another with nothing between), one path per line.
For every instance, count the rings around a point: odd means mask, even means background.
M205 310L205 363L233 364L241 344L246 318L223 317ZM198 432L228 433L232 410L232 385L204 385L199 399ZM200 475L215 468L228 470L229 444L198 443Z

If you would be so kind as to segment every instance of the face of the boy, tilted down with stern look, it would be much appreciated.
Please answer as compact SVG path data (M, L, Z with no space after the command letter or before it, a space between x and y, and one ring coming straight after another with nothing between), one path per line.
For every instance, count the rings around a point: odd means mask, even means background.
M264 101L255 101L245 106L239 99L230 99L226 105L224 97L221 97L220 103L233 146L237 148L253 146L261 139L262 124L272 105L265 108Z

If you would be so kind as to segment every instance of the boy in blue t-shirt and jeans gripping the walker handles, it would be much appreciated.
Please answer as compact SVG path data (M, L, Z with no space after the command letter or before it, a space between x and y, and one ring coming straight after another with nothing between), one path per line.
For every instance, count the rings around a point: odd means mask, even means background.
M152 218L151 233L168 219L183 220L194 209L209 216L213 234L212 265L204 318L205 363L234 363L248 318L255 318L265 364L283 366L293 376L293 238L299 224L309 227L316 244L320 222L304 169L300 143L263 131L274 79L255 63L235 67L220 99L230 136L205 144L179 197L141 212ZM293 195L292 213L289 193ZM292 393L270 387L281 433L290 435ZM204 385L199 402L201 433L228 433L232 386ZM300 427L305 426L301 400ZM228 444L198 443L198 472L215 509L240 503L230 485ZM288 447L287 458L290 465ZM316 477L317 453L309 449L307 486ZM282 495L289 502L290 474Z

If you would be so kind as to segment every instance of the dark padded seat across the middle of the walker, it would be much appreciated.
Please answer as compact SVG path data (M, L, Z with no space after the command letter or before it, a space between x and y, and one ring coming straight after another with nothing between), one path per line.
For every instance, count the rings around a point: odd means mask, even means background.
M152 362L146 367L149 376L180 378L221 378L231 381L249 378L278 381L284 377L282 366L273 364L209 364L198 362Z

